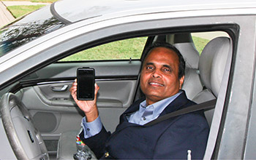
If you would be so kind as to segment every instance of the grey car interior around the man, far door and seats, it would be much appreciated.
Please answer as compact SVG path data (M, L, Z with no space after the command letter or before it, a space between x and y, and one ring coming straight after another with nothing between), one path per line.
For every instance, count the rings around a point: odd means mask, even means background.
M140 65L145 57L146 47L154 41L173 44L184 56L186 71L182 89L190 100L203 103L217 99L219 89L224 85L222 77L228 77L229 74L232 39L225 32L214 35L208 39L203 51L199 52L193 36L194 33L187 32L148 36L143 44L140 59L76 62L59 60L21 79L22 87L12 89L12 92L15 92L31 113L50 159L73 159L76 152L75 136L80 131L81 119L84 116L69 93L78 67L95 69L96 82L99 85L99 115L110 132L115 130L121 113L139 97L143 97L138 83ZM211 126L214 109L206 111L205 114Z

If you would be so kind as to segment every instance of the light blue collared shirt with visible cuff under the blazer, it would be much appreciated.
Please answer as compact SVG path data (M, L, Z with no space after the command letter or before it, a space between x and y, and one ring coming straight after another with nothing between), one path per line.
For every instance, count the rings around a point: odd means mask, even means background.
M167 97L164 100L160 100L159 102L148 106L146 106L146 100L144 100L142 103L140 103L139 110L127 116L127 120L129 123L140 125L146 124L149 121L153 121L154 119L157 119L160 113L165 110L167 105L172 103L173 100L175 100L176 97L178 97L180 94L181 92L178 92L172 97ZM83 130L85 131L84 137L89 138L91 136L97 135L101 131L102 121L100 120L99 116L92 122L86 122L86 117L83 117L82 126Z

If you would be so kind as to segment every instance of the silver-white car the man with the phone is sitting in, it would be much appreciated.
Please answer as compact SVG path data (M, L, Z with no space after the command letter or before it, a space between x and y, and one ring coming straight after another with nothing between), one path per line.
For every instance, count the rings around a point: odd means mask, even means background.
M21 17L0 30L0 159L72 159L79 67L95 69L112 132L143 96L140 65L154 41L184 55L189 99L217 100L204 159L255 159L255 35L254 0L63 0Z

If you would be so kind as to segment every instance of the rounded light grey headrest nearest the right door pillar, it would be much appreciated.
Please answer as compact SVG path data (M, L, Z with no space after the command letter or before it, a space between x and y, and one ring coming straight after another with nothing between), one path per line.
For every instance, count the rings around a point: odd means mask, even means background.
M199 60L200 79L217 97L227 57L232 51L230 39L217 37L208 42Z

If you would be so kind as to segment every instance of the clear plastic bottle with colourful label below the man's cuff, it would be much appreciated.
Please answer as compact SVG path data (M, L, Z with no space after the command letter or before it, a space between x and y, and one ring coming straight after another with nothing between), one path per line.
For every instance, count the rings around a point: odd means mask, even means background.
M80 140L79 135L76 137L76 146L77 146L77 153L74 154L74 159L78 160L89 160L91 159L91 154L89 153L87 146Z

